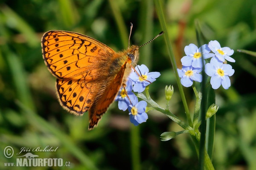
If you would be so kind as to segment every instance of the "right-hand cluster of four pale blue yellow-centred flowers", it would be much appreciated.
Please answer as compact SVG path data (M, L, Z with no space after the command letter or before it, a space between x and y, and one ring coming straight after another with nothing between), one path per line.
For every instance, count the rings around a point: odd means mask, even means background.
M204 44L198 48L195 44L189 44L184 48L186 56L182 57L182 68L177 69L180 82L185 87L190 87L193 81L201 82L203 64L205 65L205 73L211 77L210 83L213 89L218 89L221 85L224 89L230 87L230 76L234 74L234 69L229 64L225 64L225 60L235 62L235 59L230 57L234 50L229 47L221 48L218 41L210 41L209 44ZM202 57L203 62L202 62ZM207 64L207 59L210 62Z

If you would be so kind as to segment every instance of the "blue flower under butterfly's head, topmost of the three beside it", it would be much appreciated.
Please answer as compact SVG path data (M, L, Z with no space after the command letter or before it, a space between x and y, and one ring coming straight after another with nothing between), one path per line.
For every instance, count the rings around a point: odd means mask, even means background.
M137 65L135 70L141 74L141 77L138 76L138 74L134 71L129 75L129 79L134 82L133 91L138 93L143 92L147 85L149 85L151 82L154 82L156 78L160 76L159 72L148 72L148 68L144 64Z

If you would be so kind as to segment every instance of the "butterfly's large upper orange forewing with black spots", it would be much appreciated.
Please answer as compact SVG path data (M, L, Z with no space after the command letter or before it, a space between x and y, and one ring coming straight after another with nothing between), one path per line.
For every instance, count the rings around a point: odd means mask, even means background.
M95 69L95 62L114 53L103 43L69 31L48 31L42 37L44 61L53 75L68 79Z

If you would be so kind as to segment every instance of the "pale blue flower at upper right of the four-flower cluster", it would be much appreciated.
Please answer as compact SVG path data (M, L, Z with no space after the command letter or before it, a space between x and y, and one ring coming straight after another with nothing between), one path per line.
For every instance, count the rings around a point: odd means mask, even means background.
M222 62L225 59L229 62L235 62L236 60L230 57L234 54L234 50L231 50L229 47L221 48L221 45L218 41L210 41L208 47L215 53L215 56Z

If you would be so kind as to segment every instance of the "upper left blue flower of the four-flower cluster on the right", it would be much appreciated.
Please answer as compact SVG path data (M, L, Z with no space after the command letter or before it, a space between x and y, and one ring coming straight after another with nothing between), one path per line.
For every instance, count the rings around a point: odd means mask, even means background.
M202 45L199 49L195 44L186 45L184 48L186 56L181 58L183 66L191 66L194 68L203 68L202 55L204 59L213 57L214 54L209 53L211 50L206 44ZM203 54L202 54L203 53ZM204 61L205 64L205 61Z

